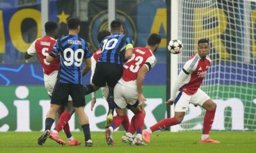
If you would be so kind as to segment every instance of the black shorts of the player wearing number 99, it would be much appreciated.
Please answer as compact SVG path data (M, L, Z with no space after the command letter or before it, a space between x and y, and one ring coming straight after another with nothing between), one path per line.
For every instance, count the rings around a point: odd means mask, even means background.
M67 105L68 95L70 95L74 107L85 106L83 90L83 85L80 84L62 84L57 82L52 91L51 104Z

